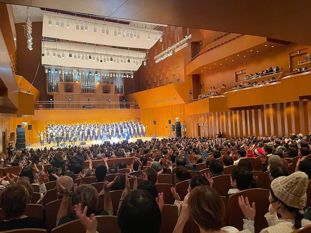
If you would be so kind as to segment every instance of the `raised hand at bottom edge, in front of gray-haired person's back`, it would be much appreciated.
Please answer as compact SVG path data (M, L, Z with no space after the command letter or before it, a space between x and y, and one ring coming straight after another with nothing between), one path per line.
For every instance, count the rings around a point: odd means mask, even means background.
M91 214L90 217L86 216L87 206L82 212L82 204L79 203L74 206L74 211L76 212L77 217L79 218L81 224L84 226L88 233L95 233L97 229L97 220L95 214Z

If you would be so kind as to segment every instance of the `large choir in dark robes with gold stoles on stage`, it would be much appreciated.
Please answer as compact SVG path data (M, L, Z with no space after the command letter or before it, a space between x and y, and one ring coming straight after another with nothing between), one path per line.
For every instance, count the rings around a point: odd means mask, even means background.
M146 136L146 127L142 122L135 121L124 121L124 122L112 122L112 123L102 123L88 124L84 122L83 124L77 123L72 125L60 125L60 124L49 124L45 126L45 132L38 132L40 137L41 146L44 145L44 139L47 144L55 144L57 139L66 143L74 144L79 141L92 140L102 140L107 141L108 139L118 138L118 139L130 139L130 137L142 137ZM45 136L45 137L44 137Z

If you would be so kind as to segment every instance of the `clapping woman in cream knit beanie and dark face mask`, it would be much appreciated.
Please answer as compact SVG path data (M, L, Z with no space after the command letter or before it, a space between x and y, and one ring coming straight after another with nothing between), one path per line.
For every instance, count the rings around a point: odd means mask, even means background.
M262 229L260 233L290 233L311 224L309 220L304 219L303 211L307 204L308 182L308 176L301 171L296 171L290 176L280 176L272 181L269 212L265 214L269 226ZM244 201L244 197L241 196L239 206L245 215L244 230L253 233L255 203L251 207L248 199ZM279 219L276 213L279 213L282 218Z

